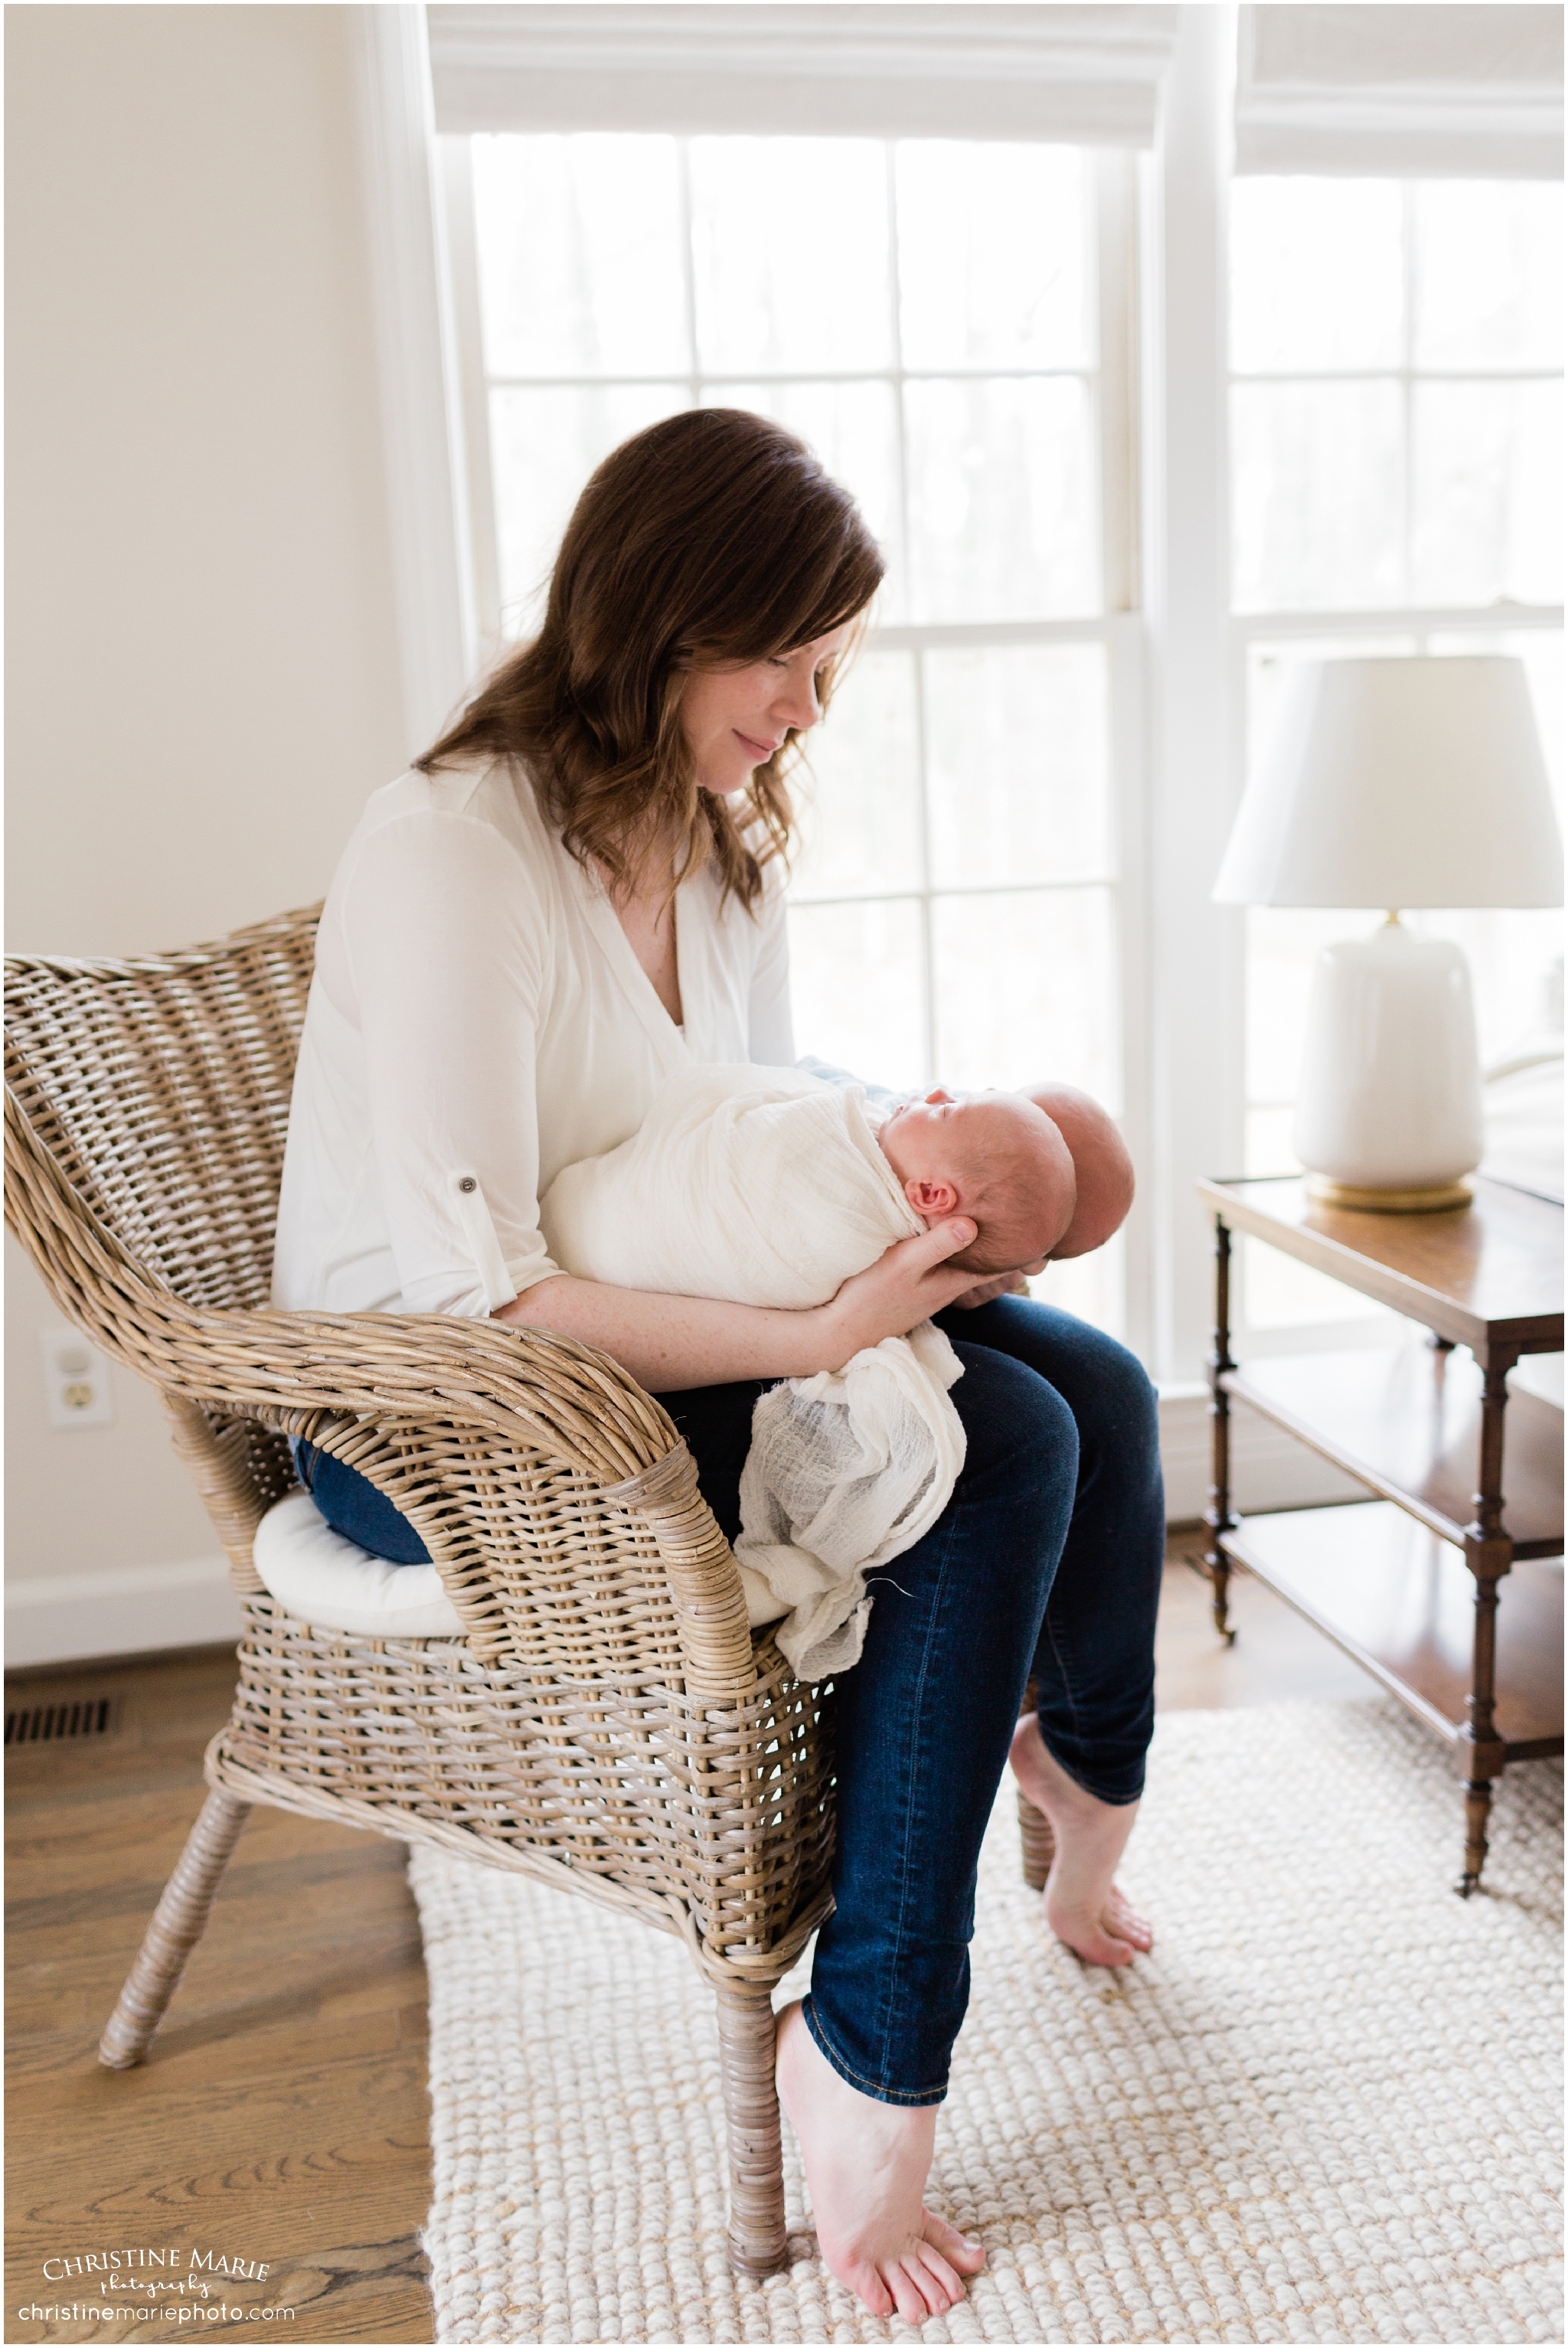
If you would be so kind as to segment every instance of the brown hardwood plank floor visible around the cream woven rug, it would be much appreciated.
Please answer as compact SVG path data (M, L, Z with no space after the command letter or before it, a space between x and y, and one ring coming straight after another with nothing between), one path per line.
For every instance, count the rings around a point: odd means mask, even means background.
M1223 1648L1192 1545L1174 1536L1167 1559L1164 1707L1368 1693L1246 1578L1232 1585L1242 1634ZM19 2310L110 2303L103 2271L61 2280L59 2261L127 2249L181 2252L120 2275L188 2289L197 2252L204 2306L256 2308L296 2348L432 2336L425 1970L399 1843L256 1810L150 2059L122 2073L94 2059L200 1808L232 1679L232 1653L197 1651L7 1684L7 1712L113 1707L106 1735L7 1752L7 2341L103 2339L94 2317Z

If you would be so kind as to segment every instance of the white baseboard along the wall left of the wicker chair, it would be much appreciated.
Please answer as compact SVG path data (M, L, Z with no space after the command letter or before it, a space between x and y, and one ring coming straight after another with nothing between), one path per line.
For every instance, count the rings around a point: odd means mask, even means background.
M155 1648L216 1646L239 1637L239 1599L225 1557L122 1573L59 1573L5 1590L5 1660L87 1662Z

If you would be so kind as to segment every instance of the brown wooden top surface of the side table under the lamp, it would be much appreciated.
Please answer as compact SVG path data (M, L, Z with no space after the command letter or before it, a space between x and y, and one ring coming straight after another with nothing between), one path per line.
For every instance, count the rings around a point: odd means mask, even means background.
M1563 1343L1563 1209L1530 1190L1474 1179L1448 1214L1319 1207L1305 1176L1199 1181L1232 1230L1406 1313L1479 1357L1491 1345L1556 1352Z

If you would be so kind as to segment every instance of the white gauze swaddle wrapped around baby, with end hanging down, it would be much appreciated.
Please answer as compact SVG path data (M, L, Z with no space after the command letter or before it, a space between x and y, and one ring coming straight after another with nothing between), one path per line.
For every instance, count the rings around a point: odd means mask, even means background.
M826 1303L925 1230L859 1087L732 1064L671 1075L629 1141L556 1176L540 1223L582 1280L791 1310ZM751 1622L779 1622L800 1679L859 1660L866 1573L948 1505L965 1463L958 1376L946 1336L922 1322L758 1399L735 1554Z

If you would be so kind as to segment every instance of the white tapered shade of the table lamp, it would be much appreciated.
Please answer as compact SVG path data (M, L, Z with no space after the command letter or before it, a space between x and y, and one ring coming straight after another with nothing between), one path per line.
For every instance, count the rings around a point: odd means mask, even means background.
M1298 662L1214 897L1561 904L1561 841L1523 664Z

